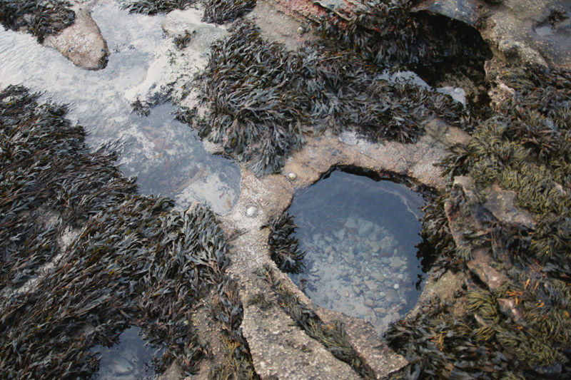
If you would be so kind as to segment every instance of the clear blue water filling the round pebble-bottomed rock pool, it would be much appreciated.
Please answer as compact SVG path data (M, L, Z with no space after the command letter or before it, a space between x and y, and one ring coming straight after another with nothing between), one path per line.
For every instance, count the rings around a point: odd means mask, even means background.
M293 282L320 306L384 331L420 297L423 205L405 185L333 171L289 207L306 265Z

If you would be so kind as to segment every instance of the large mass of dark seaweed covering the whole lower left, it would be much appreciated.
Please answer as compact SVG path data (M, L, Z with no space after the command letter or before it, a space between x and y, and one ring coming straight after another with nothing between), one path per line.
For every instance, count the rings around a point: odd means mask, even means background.
M89 153L65 108L36 98L14 86L0 93L0 373L89 377L98 365L89 347L113 344L129 324L163 348L159 370L176 359L190 373L204 351L191 313L228 264L215 215L136 195L114 155ZM61 221L55 230L46 213ZM61 252L66 227L81 233L61 260L31 289L11 292Z

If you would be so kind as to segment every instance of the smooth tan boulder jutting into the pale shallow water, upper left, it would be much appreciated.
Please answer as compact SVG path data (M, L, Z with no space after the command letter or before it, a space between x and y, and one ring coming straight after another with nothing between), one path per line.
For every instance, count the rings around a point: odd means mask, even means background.
M88 9L74 7L74 24L57 36L47 36L44 46L55 48L74 65L87 70L98 70L107 64L109 54L107 43L101 31L91 18Z

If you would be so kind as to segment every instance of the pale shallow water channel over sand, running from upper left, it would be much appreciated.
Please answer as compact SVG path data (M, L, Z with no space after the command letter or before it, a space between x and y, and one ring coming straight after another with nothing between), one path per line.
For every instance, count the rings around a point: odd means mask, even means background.
M0 28L0 87L21 84L44 92L44 100L69 104L68 118L86 128L92 147L124 143L118 163L138 176L141 193L172 197L181 207L199 200L218 213L231 210L240 191L236 163L206 153L196 131L173 120L173 106L153 109L148 118L131 113L126 93L146 80L165 43L163 16L128 14L111 4L96 6L91 16L111 52L106 68L83 70L29 34ZM203 53L206 46L197 48Z

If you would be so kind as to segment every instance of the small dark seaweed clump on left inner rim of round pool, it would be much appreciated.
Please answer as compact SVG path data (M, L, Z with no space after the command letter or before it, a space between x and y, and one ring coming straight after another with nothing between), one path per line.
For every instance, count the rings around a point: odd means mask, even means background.
M262 228L270 229L268 236L270 255L278 268L283 272L303 272L305 252L299 249L299 242L293 237L295 228L297 228L293 223L293 217L288 212L284 212L268 220Z

